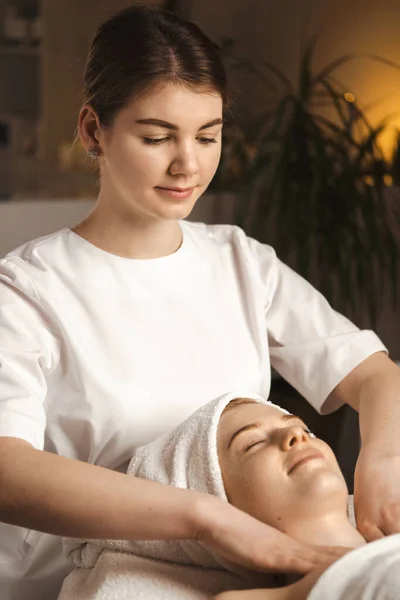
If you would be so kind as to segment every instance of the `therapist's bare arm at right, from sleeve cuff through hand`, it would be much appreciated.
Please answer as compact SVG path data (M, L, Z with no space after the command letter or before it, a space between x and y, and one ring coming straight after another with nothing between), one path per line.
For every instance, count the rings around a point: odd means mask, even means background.
M332 395L359 412L357 527L369 541L400 532L400 369L385 354L373 354Z

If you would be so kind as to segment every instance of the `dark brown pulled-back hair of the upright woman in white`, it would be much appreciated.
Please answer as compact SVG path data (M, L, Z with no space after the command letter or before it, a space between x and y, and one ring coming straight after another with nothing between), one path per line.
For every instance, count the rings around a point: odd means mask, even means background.
M165 83L218 92L229 90L221 52L194 23L165 10L131 6L100 25L89 52L85 103L104 126L135 95Z

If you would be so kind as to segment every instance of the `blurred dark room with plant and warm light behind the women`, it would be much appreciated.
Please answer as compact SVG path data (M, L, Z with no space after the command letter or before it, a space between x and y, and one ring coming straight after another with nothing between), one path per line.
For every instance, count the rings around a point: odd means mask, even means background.
M143 2L140 2L143 3ZM372 327L400 360L398 0L165 0L225 56L234 104L220 169L190 219L236 223ZM101 21L132 0L0 0L0 255L79 221L97 175L74 144ZM317 418L351 481L351 409ZM300 407L300 408L299 408Z

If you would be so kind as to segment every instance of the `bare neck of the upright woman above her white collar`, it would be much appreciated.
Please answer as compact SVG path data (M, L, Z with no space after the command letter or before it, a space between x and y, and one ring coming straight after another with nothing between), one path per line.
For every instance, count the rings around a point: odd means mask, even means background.
M116 214L100 199L73 231L106 252L132 259L168 256L182 244L182 231L177 220Z

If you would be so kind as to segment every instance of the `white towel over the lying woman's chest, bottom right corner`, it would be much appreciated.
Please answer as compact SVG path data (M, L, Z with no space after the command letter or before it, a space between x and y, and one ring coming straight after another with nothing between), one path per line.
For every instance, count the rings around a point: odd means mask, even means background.
M398 600L400 534L345 554L319 578L308 600Z

